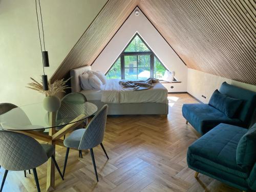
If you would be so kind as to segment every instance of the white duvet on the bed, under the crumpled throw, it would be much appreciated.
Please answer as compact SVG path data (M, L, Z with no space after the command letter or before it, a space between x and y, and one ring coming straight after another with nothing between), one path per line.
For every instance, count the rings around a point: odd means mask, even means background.
M119 85L120 79L110 79L101 87L101 101L104 103L167 103L168 91L161 83L154 83L148 90L135 91Z

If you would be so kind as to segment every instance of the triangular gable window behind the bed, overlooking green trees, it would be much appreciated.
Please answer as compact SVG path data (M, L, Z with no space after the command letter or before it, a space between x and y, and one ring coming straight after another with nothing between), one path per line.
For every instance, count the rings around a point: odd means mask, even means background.
M162 79L166 68L138 33L106 73L108 79Z

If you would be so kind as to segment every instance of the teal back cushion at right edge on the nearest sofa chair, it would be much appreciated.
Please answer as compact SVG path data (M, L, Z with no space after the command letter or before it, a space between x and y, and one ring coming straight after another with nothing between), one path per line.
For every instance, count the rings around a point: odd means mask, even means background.
M256 123L240 139L236 154L237 164L249 170L256 162Z

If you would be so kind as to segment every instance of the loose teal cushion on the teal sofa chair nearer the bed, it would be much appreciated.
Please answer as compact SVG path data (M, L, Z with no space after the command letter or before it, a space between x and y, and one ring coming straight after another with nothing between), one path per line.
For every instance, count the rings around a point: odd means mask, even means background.
M227 117L233 118L242 102L243 100L241 99L229 97L221 94L218 90L215 90L209 100L209 105L218 109L222 113L225 113Z

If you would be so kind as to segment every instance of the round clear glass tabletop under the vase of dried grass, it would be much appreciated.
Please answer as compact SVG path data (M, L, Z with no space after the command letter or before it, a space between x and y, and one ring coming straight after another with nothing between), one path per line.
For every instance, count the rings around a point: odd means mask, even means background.
M14 108L0 115L0 129L29 131L61 127L78 121L83 121L97 112L98 108L90 102L61 102L58 111L52 114L46 111L42 103L34 103ZM49 120L53 118L53 124Z

